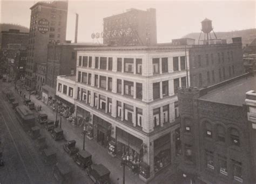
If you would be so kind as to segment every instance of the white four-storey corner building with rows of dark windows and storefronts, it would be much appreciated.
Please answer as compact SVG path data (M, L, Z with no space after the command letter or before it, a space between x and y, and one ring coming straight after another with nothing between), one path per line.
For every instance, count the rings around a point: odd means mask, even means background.
M113 141L118 156L143 161L144 180L163 168L176 167L174 160L180 154L176 94L178 87L186 86L184 46L95 47L77 52L76 79L58 76L56 95L70 103L75 99L78 121L91 115L88 126L99 144Z

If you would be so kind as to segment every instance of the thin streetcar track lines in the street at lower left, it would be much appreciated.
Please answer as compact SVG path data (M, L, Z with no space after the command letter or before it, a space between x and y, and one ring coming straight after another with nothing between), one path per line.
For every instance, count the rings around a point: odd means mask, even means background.
M9 107L5 104L4 101L2 102L2 104L5 106L6 112L8 113L8 115L9 115L11 121L12 121L11 124L12 124L13 126L15 126L15 125L14 125L14 124L15 124L15 123L14 123L14 119L12 118L12 116L11 116L10 113L9 113L10 110L8 110ZM2 114L2 113L1 113L1 114ZM2 115L2 117L3 117L3 115ZM16 114L15 114L15 117L16 117L16 119L19 121L19 123L21 123L21 120L19 120L19 118L17 118ZM10 133L10 132L9 132L9 133ZM44 179L44 177L43 177L43 175L42 175L42 171L41 171L40 167L37 165L35 158L33 158L33 156L32 156L32 154L31 154L31 152L30 152L28 146L26 145L26 141L24 141L24 138L22 137L21 133L20 133L18 130L17 130L17 133L18 133L19 137L21 137L21 139L23 140L24 146L25 146L25 148L26 148L26 151L29 153L30 157L32 158L33 163L35 163L35 166L36 166L36 168L37 168L37 170L38 170L38 172L39 172L39 175L40 175L41 178L45 181L45 179ZM27 171L26 171L26 173L27 173ZM27 174L28 174L28 173L27 173ZM30 176L29 176L29 179L30 179L30 182L31 182ZM31 182L31 183L32 183L32 182Z

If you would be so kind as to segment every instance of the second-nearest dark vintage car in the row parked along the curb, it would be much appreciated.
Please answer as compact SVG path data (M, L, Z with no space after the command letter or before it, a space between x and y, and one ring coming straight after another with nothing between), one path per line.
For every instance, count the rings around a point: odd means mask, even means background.
M73 156L73 160L82 168L90 167L92 165L92 155L84 150L77 152Z

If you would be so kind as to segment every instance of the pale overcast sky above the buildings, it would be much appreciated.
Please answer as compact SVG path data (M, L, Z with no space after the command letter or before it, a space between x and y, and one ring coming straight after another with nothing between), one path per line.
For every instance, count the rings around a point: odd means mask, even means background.
M0 0L1 22L27 26L30 7L37 1ZM158 43L200 32L200 22L211 19L214 31L255 28L255 1L69 1L67 40L74 40L79 13L78 42L92 42L91 33L103 30L103 18L126 9L157 9Z

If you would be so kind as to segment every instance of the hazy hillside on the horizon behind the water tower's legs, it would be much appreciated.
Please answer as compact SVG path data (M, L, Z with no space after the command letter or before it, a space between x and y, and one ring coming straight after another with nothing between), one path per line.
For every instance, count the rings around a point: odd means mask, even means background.
M218 39L226 39L227 43L232 43L233 37L242 37L242 45L250 44L253 39L256 38L256 29L246 29L240 31L230 31L230 32L215 32ZM213 33L211 33L212 38L214 38ZM200 36L200 32L189 33L185 35L183 38L193 38L196 39L196 43L198 43L198 38ZM201 38L204 39L204 33L202 32Z

